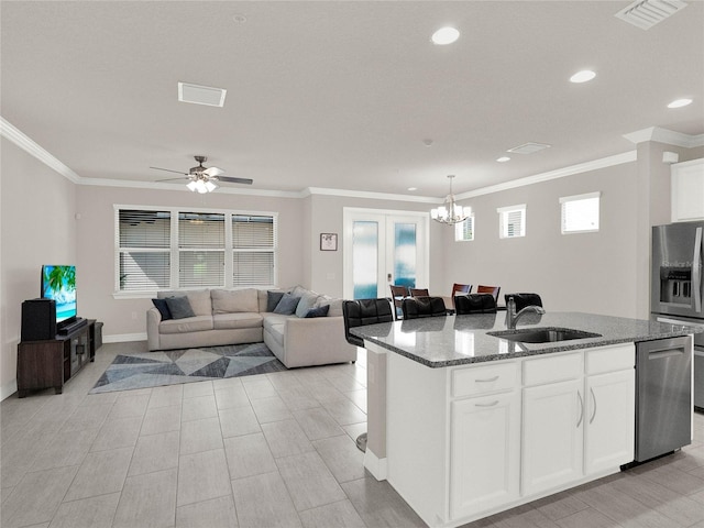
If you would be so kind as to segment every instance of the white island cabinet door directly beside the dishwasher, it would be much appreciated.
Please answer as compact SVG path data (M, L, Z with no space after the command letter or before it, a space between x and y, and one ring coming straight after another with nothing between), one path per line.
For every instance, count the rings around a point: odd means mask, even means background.
M634 460L636 371L586 378L584 472L588 475Z

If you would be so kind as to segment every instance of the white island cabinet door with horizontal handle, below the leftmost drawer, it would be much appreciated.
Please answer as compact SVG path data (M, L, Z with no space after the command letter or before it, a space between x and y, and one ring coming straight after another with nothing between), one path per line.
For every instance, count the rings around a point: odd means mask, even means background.
M520 393L451 404L450 518L518 497Z

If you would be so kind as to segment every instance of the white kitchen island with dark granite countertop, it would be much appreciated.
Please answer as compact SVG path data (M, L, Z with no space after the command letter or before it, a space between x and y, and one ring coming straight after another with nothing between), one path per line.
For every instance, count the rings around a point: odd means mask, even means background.
M576 312L527 314L512 331L505 317L351 330L369 352L365 466L429 526L460 526L618 472L634 460L635 343L698 331ZM591 337L510 336L538 328Z

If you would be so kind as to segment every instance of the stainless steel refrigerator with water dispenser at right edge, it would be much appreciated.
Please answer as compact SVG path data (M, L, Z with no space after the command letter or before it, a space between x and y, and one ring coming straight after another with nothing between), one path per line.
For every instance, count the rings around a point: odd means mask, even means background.
M704 327L703 252L704 221L652 228L653 319ZM704 411L704 333L694 334L694 406Z

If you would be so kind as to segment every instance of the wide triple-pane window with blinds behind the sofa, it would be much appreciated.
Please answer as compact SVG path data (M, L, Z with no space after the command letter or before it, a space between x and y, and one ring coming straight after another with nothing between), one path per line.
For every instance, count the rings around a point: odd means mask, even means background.
M116 206L116 290L276 284L276 216Z

